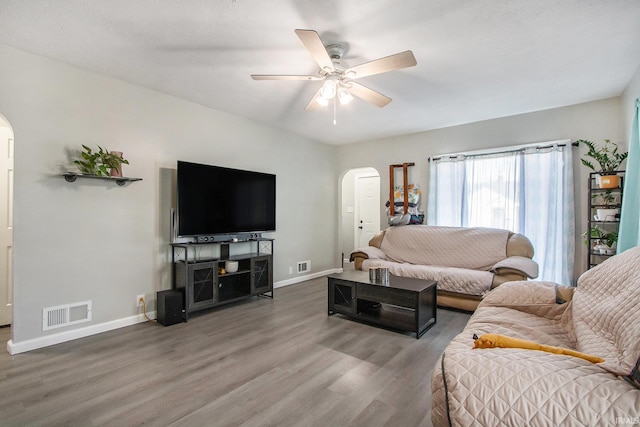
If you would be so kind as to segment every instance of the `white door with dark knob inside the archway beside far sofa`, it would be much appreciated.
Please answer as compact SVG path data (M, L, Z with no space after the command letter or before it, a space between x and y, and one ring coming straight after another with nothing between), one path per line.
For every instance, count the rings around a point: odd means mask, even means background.
M355 247L369 246L380 231L380 177L356 176Z

